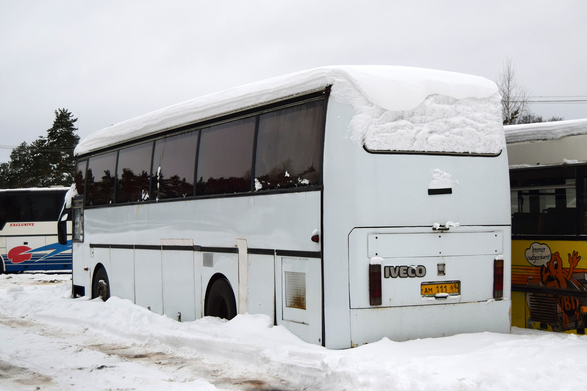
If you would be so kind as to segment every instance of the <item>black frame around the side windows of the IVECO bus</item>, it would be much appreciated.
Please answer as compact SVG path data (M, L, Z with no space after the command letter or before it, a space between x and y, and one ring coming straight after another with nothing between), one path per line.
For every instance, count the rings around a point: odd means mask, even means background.
M324 161L324 140L325 140L325 128L326 128L326 111L328 107L328 98L330 94L330 86L326 87L325 89L317 90L312 93L303 94L300 96L295 97L285 97L281 100L276 100L273 103L265 104L255 108L249 108L247 110L242 111L235 111L234 113L223 115L218 118L212 118L210 120L200 121L199 123L188 124L182 127L173 128L170 130L158 132L153 135L149 135L146 137L138 138L137 140L123 142L113 147L102 148L96 151L90 152L88 154L79 155L76 158L76 164L82 161L86 161L86 172L84 175L84 188L85 193L83 195L83 205L84 208L110 208L122 205L136 205L136 204L150 204L150 203L160 203L160 202L175 202L180 200L190 200L190 199L208 199L208 198L227 198L227 197L239 197L239 196L254 196L254 195L269 195L275 193L297 193L297 192L309 192L309 191L321 191L323 186L323 161ZM301 186L301 187L292 187L292 188L281 188L281 189L264 189L262 191L255 191L255 161L257 158L257 137L258 137L258 127L259 127L259 117L262 114L270 113L272 111L279 111L287 107L293 106L300 106L306 103L311 103L314 101L322 101L323 110L322 110L322 124L321 124L321 135L320 135L320 149L319 149L319 164L320 164L320 172L319 172L319 179L315 185L308 185L308 186ZM198 142L197 142L197 149L195 153L195 161L194 161L194 195L188 196L185 198L169 198L169 199L153 199L150 198L146 201L141 202L124 202L124 203L116 203L116 182L114 183L114 198L112 204L106 205L87 205L87 168L89 166L89 161L92 157L97 157L99 155L107 154L110 152L116 151L116 164L114 168L114 173L117 172L118 160L119 160L119 151L121 149L131 147L133 145L144 144L146 142L153 142L153 154L154 154L154 143L157 140L162 138L183 134L189 131L198 131L203 128L211 127L212 125L218 125L222 123L227 123L234 120L241 120L243 118L255 118L255 131L254 131L254 141L253 141L253 151L252 151L252 161L251 161L251 189L250 191L241 192L241 193L221 193L221 194L213 194L213 195L196 195L195 193L195 183L197 183L197 162L198 162L198 154L200 152L200 138L201 138L201 131L198 132ZM151 172L150 172L150 193L153 193L153 172L152 172L152 160L151 160Z

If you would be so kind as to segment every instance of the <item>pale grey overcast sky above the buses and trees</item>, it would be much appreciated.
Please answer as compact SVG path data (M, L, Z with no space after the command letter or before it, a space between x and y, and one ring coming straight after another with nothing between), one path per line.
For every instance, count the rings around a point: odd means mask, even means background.
M497 80L587 99L587 1L0 0L0 161L67 108L87 135L150 111L333 64ZM532 105L587 118L587 103Z

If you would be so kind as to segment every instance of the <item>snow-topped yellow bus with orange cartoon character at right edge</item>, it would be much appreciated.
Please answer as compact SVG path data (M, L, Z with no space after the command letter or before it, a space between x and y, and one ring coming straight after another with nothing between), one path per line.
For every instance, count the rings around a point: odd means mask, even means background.
M587 119L504 128L512 326L585 334Z

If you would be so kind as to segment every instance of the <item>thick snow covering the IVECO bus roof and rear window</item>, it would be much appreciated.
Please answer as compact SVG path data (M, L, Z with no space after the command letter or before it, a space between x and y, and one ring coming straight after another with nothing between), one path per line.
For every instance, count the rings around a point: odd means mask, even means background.
M332 86L355 109L348 137L369 149L497 153L505 146L495 83L401 66L328 66L185 101L90 134L75 155ZM432 125L430 125L432 124Z

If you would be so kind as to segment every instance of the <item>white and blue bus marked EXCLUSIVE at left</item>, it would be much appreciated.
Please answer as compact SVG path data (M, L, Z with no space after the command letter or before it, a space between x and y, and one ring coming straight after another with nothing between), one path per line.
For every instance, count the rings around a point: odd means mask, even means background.
M67 192L61 187L0 190L0 272L71 271L71 238L59 244L56 226Z

